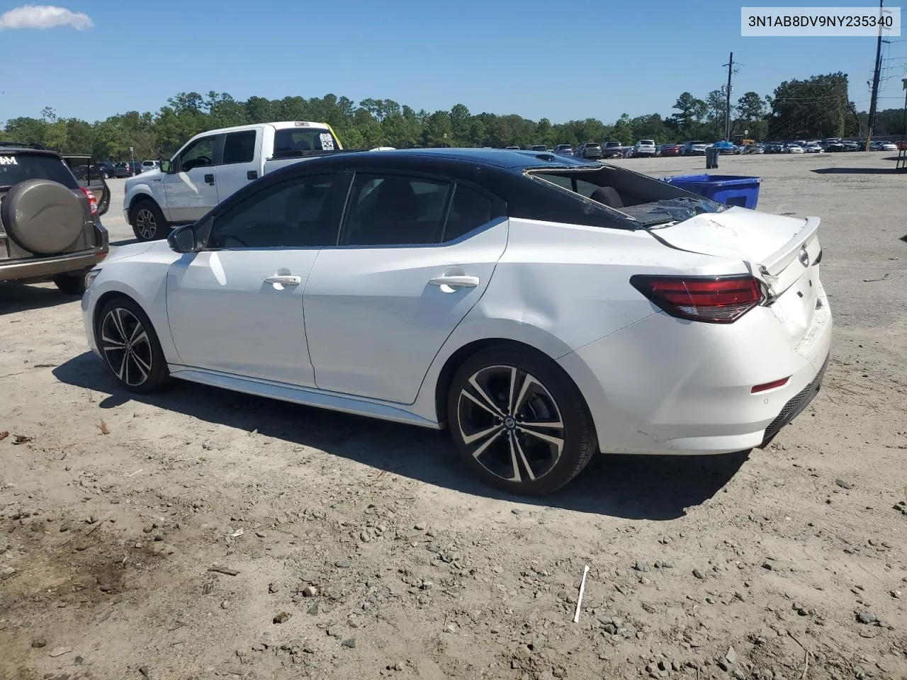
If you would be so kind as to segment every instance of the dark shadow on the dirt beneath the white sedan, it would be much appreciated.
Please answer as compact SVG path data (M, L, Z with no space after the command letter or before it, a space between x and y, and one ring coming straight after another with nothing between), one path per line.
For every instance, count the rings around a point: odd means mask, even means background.
M123 391L101 359L85 353L54 369L66 384L107 394L104 409L130 401L183 413L207 423L317 448L376 470L499 500L625 519L673 520L720 491L748 452L720 456L597 456L564 489L535 500L496 491L458 460L445 432L174 381L161 393ZM200 442L203 443L203 442Z

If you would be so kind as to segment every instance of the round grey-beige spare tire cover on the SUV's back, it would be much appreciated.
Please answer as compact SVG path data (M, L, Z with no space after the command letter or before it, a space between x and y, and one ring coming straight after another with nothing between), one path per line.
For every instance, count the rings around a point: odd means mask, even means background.
M51 180L16 184L0 203L6 233L35 255L65 250L85 228L82 201L70 189Z

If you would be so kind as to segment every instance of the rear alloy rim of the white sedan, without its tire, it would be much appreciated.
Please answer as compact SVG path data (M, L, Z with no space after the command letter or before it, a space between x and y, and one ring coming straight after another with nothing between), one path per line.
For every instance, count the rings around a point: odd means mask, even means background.
M457 426L466 449L496 477L535 481L551 472L566 429L551 393L515 366L487 366L463 386Z

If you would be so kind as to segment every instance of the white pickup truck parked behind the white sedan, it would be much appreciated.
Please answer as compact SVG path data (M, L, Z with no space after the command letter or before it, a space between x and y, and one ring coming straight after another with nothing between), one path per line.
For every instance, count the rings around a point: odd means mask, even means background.
M269 171L342 149L324 122L264 122L202 132L171 160L162 160L160 169L126 180L123 213L135 238L166 238L172 226L200 219Z

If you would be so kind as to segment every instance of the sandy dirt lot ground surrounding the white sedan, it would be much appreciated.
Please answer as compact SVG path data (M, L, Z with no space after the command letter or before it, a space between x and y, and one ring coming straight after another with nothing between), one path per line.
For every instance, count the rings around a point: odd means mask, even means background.
M907 677L892 167L722 158L764 178L760 209L823 219L823 392L765 451L601 456L539 503L473 482L436 432L192 384L132 398L78 302L0 288L0 676ZM115 205L108 224L128 238Z

